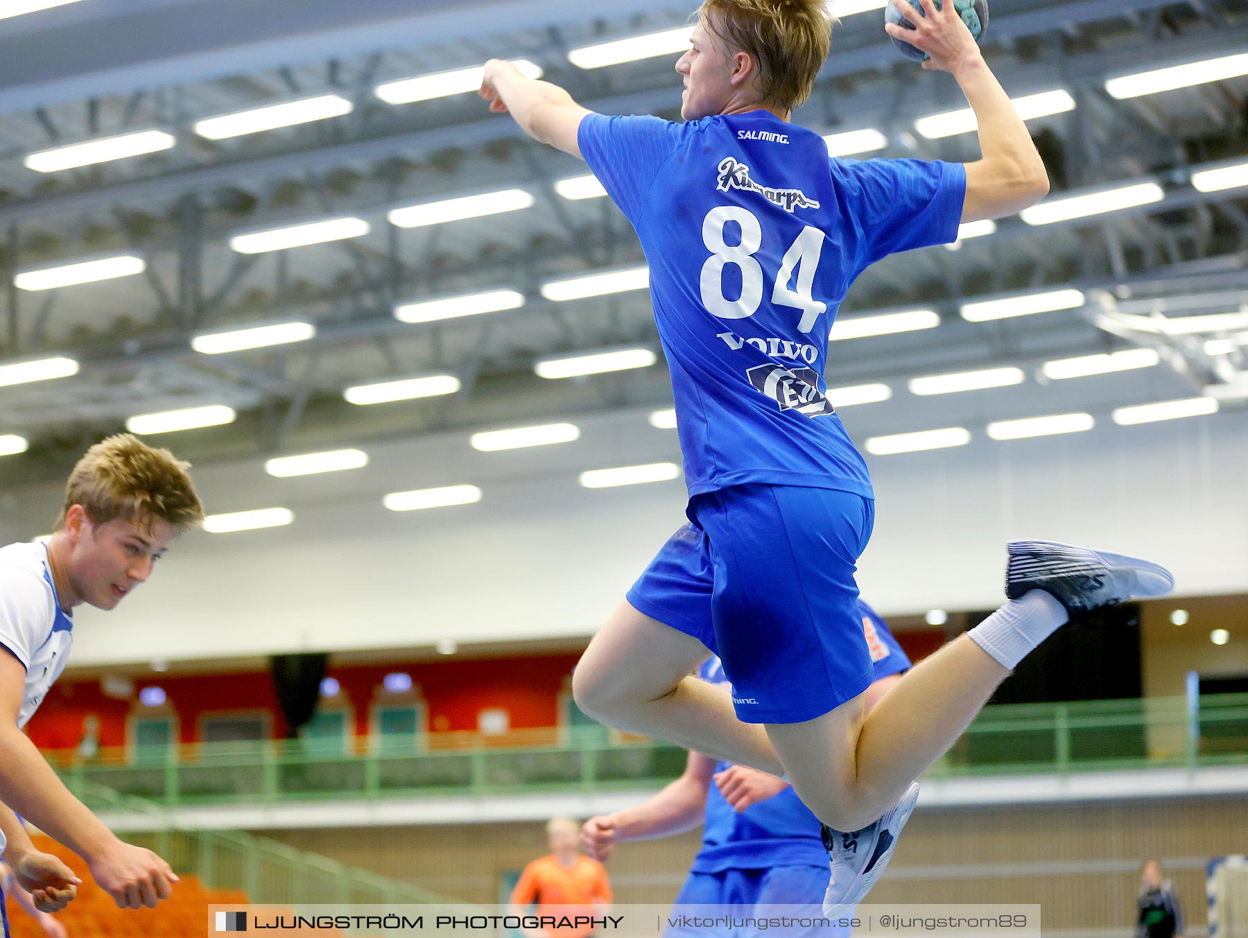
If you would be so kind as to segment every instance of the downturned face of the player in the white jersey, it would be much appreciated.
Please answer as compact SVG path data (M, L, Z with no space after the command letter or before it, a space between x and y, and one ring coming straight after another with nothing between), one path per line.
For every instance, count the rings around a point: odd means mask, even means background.
M70 586L81 602L115 609L139 584L151 576L156 560L168 549L177 529L158 518L115 518L91 524L80 505L65 519L72 550Z

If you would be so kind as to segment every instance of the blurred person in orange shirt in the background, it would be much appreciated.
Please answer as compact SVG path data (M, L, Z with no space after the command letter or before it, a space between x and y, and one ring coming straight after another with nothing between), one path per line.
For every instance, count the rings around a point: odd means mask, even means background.
M553 817L547 822L550 853L524 867L512 891L512 907L528 909L537 903L539 916L600 917L612 902L612 884L607 869L597 859L580 852L580 822L570 817ZM592 924L547 928L544 932L525 929L530 938L588 938Z

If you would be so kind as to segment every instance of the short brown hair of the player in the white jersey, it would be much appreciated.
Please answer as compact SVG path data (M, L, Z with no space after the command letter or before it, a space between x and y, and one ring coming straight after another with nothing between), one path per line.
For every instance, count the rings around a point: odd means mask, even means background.
M74 505L82 505L91 524L116 518L158 518L178 531L203 520L203 503L195 491L190 463L167 449L155 449L129 433L96 443L74 467L65 484L65 504L56 529Z

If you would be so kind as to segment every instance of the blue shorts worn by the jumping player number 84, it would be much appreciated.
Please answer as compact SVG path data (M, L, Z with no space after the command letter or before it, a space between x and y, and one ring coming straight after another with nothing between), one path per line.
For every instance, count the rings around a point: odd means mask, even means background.
M639 612L701 641L748 723L797 723L874 680L855 563L875 503L849 491L734 485L694 496L628 591Z

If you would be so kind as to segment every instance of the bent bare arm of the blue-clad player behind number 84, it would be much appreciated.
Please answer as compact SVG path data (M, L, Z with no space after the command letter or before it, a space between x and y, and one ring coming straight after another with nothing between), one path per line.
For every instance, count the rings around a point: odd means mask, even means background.
M706 792L715 761L690 752L684 773L636 807L589 818L580 828L580 847L590 857L605 861L612 847L623 841L670 837L698 827L706 807Z

